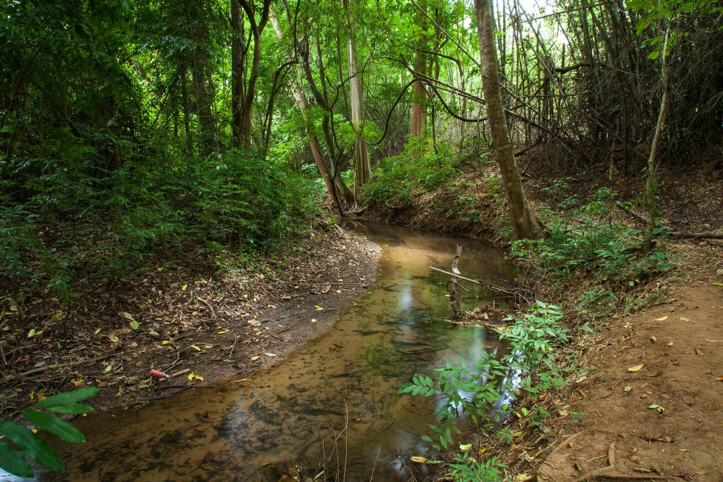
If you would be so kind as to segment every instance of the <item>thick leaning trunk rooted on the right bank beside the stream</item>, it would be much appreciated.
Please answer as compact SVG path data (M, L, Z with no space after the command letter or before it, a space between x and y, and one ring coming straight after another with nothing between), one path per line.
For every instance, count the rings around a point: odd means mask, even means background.
M495 144L497 163L500 165L502 181L505 184L510 223L512 223L516 239L536 239L542 236L544 225L537 219L534 210L527 202L512 142L510 142L505 111L502 108L502 95L500 95L495 27L492 22L489 0L474 0L474 14L477 20L477 35L479 35L484 103L487 106L489 131L492 134L492 142Z

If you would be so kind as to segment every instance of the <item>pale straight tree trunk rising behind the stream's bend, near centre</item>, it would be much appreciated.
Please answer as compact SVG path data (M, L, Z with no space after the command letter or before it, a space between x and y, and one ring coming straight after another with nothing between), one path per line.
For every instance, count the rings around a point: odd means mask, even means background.
M349 85L351 97L351 124L354 126L356 141L354 142L354 195L359 195L359 188L367 184L372 178L372 168L369 165L367 141L364 140L364 100L361 87L361 73L359 72L359 59L356 53L356 24L349 9L354 9L354 0L342 0L347 10L347 21L351 27L351 36L348 41L349 55Z

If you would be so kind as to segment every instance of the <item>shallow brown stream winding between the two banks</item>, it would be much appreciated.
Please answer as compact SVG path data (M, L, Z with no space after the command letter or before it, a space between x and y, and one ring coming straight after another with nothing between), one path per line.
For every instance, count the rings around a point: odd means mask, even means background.
M406 479L404 462L424 454L419 435L440 401L396 395L399 387L448 361L504 349L492 332L432 319L450 314L449 277L429 266L448 270L461 244L462 275L495 281L512 272L501 251L467 238L394 225L348 228L379 244L382 255L375 285L340 309L330 330L249 382L81 418L88 443L61 452L67 473L40 478L275 481L298 464L307 476L325 469L330 480ZM463 307L492 296L462 284L470 290Z

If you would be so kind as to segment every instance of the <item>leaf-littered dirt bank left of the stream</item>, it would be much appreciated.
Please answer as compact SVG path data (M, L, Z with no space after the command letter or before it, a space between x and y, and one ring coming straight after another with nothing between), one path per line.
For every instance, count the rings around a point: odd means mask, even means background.
M85 293L71 314L56 316L53 301L7 302L0 417L90 384L103 388L93 405L108 409L272 368L375 280L376 244L339 228L309 232L253 262L156 259L123 285ZM64 324L72 335L61 339ZM151 369L188 372L161 382Z

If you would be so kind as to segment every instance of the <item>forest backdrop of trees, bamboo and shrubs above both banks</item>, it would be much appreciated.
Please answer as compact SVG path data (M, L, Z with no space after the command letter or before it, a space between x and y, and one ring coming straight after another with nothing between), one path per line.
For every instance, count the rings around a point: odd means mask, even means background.
M270 246L325 192L359 210L448 180L492 142L479 3L4 3L4 275L69 297L77 272L119 275L159 246ZM719 145L719 1L491 10L518 152L644 172L663 92L660 162Z

